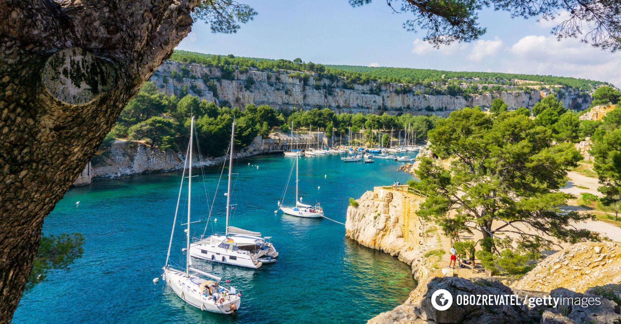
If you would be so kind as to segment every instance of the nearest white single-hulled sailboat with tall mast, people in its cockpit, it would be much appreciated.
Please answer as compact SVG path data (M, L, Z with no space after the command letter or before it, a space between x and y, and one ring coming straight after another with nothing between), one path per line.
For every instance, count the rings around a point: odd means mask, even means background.
M177 212L179 211L179 202L181 201L181 189L183 188L183 179L186 176L186 170L183 169L181 176L181 186L179 187L179 197L177 199L177 207L175 210L175 220L173 221L173 230L170 234L170 243L168 245L168 254L166 254L166 263L162 268L164 273L162 279L166 281L166 286L170 287L176 295L184 302L193 305L201 310L214 313L230 314L235 313L242 299L237 295L234 287L222 282L222 278L215 276L199 269L192 268L192 259L190 258L190 204L192 197L192 142L194 133L194 116L190 126L190 143L188 146L189 154L186 155L185 165L188 166L188 225L186 229L187 247L183 249L186 252L186 266L181 268L173 266L170 261L170 250L173 245L173 235L175 234L175 223L177 222Z

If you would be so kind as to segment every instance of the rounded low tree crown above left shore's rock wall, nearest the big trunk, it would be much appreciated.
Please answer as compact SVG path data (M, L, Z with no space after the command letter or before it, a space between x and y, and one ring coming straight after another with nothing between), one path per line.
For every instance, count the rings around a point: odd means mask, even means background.
M175 149L176 122L164 117L151 117L129 128L129 138L149 138L161 150Z

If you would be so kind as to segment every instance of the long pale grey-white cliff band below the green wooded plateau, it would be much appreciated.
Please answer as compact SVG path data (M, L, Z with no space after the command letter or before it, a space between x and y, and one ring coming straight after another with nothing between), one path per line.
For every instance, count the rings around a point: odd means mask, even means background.
M180 71L181 66L189 68L189 78L171 78L171 71ZM223 104L228 102L230 106L245 107L247 104L266 104L276 109L291 109L302 107L304 109L328 107L336 112L383 112L391 114L409 112L410 114L448 115L452 110L463 107L481 106L489 107L493 99L500 97L510 108L533 107L546 92L533 90L532 92L509 91L500 93L486 93L474 95L469 98L448 95L399 94L394 92L396 88L402 88L404 84L369 83L365 85L353 84L349 89L343 80L331 83L329 79L317 78L314 74L306 84L302 79L292 76L294 71L279 70L276 72L256 71L250 68L246 73L235 71L233 79L220 79L222 71L219 68L209 68L198 64L185 64L174 61L166 61L153 73L151 81L160 91L166 94L179 96L183 86L187 86L188 93L206 99L207 101ZM203 79L205 76L207 79ZM253 84L248 83L252 78ZM166 81L164 81L166 80ZM209 91L207 83L214 80L217 89L217 98L214 92ZM318 84L318 88L315 87ZM324 89L324 84L330 84L329 89ZM246 86L246 88L245 88ZM196 89L193 91L192 88ZM379 89L379 93L378 93ZM424 86L413 86L414 91L424 91ZM573 109L586 108L591 103L591 97L579 96L578 91L569 90L561 99L565 107ZM433 107L435 111L428 111Z

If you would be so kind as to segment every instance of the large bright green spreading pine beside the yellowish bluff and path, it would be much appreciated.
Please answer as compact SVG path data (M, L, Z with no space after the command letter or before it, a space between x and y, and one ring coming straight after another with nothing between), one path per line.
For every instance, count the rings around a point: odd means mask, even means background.
M415 187L429 196L420 205L419 216L435 221L445 233L476 230L489 238L515 232L519 237L515 247L533 253L550 248L548 235L569 242L596 240L594 233L568 226L592 215L558 209L571 198L558 189L565 186L567 171L578 165L581 156L572 143L553 145L548 128L521 114L494 116L465 108L437 120L428 136L433 153L453 161L445 169L430 158L420 158L416 171L420 182ZM450 210L454 217L446 217ZM520 223L536 234L516 229ZM495 240L481 243L489 253L499 253L504 246Z

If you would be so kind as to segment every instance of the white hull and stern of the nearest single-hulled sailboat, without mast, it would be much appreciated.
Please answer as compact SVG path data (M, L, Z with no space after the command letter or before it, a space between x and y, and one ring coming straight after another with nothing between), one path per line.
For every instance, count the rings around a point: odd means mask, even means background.
M166 286L170 287L179 298L200 310L206 310L212 313L230 314L233 312L232 305L235 305L235 309L239 309L240 304L242 304L240 297L231 293L222 294L219 292L212 295L201 294L197 284L191 281L191 278L195 281L203 280L197 276L191 275L188 278L185 272L164 268L164 277Z

